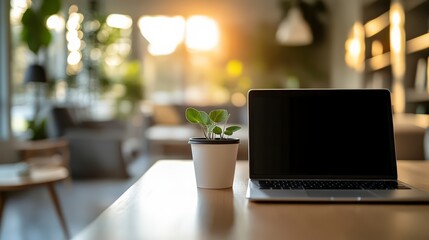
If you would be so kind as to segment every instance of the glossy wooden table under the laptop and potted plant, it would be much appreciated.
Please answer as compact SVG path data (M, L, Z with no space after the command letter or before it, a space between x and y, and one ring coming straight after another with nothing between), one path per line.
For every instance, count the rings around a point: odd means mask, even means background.
M429 191L429 162L398 166ZM74 239L429 239L429 205L253 203L247 180L238 161L232 189L198 189L191 161L159 161Z

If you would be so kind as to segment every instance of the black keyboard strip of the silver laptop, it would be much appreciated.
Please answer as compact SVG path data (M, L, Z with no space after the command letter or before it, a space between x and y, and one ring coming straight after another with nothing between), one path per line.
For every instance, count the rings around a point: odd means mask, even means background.
M350 189L350 190L385 190L409 189L396 181L336 181L336 180L261 180L260 189Z

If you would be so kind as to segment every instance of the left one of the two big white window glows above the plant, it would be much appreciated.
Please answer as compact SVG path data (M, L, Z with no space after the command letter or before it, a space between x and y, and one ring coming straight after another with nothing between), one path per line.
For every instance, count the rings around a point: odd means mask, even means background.
M140 32L149 42L152 55L168 55L183 41L185 19L181 16L144 16L138 21Z

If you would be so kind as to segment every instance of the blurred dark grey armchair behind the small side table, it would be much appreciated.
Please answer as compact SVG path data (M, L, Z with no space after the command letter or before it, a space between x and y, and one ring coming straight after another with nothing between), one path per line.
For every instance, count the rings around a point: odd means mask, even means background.
M73 178L128 177L124 145L126 124L121 121L88 121L86 109L54 106L48 114L48 136L69 142Z

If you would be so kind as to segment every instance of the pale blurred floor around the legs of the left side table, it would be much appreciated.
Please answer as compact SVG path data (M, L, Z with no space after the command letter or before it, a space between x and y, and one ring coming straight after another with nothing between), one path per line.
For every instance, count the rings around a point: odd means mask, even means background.
M56 185L71 236L76 235L112 204L151 165L141 156L130 164L129 179L73 180ZM0 240L65 239L47 189L8 193Z

